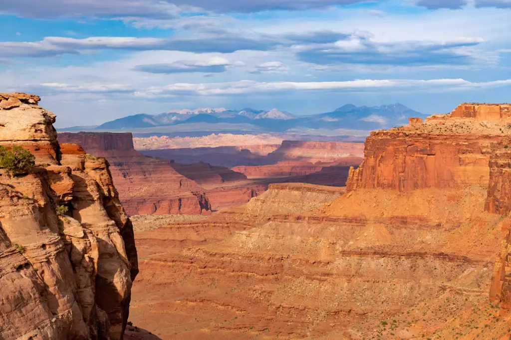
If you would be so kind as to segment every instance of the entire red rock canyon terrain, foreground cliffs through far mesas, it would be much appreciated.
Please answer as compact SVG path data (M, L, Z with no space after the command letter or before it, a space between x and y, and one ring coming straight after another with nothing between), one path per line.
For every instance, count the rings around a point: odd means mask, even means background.
M0 93L0 145L35 156L0 168L0 337L511 336L507 104L228 168L57 136L39 100Z

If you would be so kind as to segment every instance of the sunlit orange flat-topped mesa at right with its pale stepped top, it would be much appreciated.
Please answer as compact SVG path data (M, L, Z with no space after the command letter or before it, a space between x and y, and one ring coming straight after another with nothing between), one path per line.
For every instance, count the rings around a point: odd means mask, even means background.
M446 115L410 118L408 125L371 133L347 189L487 188L492 145L511 135L510 107L464 103Z

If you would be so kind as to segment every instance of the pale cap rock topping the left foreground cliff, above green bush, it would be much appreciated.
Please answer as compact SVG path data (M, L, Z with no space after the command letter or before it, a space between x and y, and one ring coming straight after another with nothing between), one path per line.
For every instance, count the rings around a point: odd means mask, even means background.
M0 145L22 146L36 156L38 164L60 161L55 115L38 106L39 96L0 93Z

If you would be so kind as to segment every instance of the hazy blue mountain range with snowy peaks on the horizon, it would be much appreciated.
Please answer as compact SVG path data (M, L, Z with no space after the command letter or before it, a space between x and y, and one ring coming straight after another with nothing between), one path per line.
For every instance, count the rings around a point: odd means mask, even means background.
M159 115L138 114L115 119L99 126L74 126L60 130L129 130L194 123L222 123L223 126L225 124L250 124L267 132L285 132L300 127L329 130L338 128L376 130L404 125L408 123L410 117L424 116L400 103L378 107L356 107L353 104L346 104L332 112L308 116L295 116L277 109L265 111L205 108L169 111Z

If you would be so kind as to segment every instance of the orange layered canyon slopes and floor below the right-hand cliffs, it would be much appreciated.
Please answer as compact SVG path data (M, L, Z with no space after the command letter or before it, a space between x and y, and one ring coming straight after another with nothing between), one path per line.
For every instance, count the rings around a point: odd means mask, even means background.
M509 220L483 189L343 194L271 185L207 219L135 220L130 320L162 339L509 337L489 302Z

